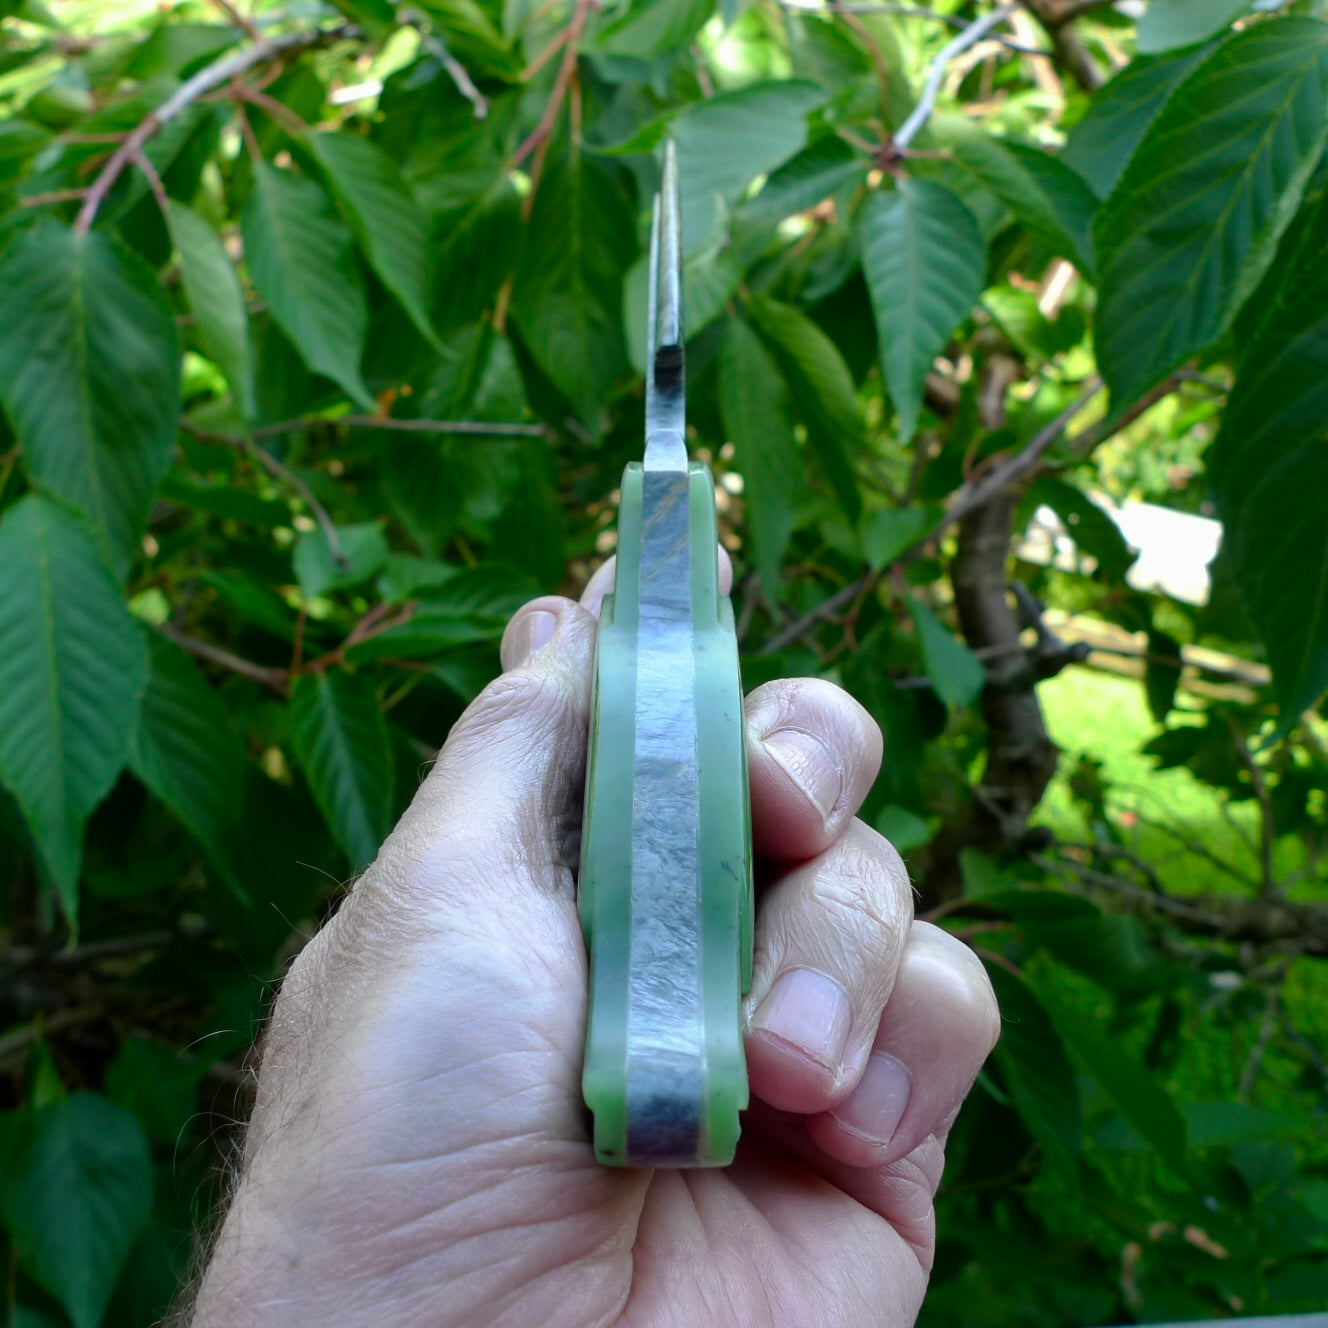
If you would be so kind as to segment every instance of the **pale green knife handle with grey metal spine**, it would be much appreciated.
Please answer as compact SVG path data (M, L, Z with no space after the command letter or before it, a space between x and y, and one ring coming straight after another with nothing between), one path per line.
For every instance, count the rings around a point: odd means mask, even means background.
M709 467L627 467L579 882L582 1090L606 1166L724 1166L748 1104L752 823L737 636L716 548Z

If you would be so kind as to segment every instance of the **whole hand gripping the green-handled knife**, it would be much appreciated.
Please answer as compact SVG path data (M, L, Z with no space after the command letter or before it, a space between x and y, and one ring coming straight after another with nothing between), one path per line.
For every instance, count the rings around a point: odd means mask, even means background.
M198 1328L912 1324L946 1135L999 1019L854 819L880 734L829 683L746 703L737 1159L595 1162L574 871L604 584L513 619L506 672L291 967Z

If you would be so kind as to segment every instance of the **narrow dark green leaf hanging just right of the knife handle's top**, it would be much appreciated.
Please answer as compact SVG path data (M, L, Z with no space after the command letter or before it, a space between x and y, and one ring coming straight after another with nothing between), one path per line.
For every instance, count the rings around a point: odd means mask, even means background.
M720 343L720 417L742 475L752 562L773 604L805 479L789 389L774 357L742 319L728 321Z

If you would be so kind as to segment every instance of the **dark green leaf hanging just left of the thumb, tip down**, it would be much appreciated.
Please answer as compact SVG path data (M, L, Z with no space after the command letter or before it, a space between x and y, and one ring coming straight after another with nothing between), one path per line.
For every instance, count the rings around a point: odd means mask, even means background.
M373 684L340 669L305 673L291 691L295 754L333 838L356 870L392 829L393 764Z

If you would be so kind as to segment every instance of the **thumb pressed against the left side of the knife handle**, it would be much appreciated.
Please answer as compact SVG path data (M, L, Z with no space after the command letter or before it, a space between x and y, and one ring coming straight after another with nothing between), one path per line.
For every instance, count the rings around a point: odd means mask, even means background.
M505 672L454 725L382 847L374 875L418 907L530 888L572 896L595 619L559 596L507 624Z

